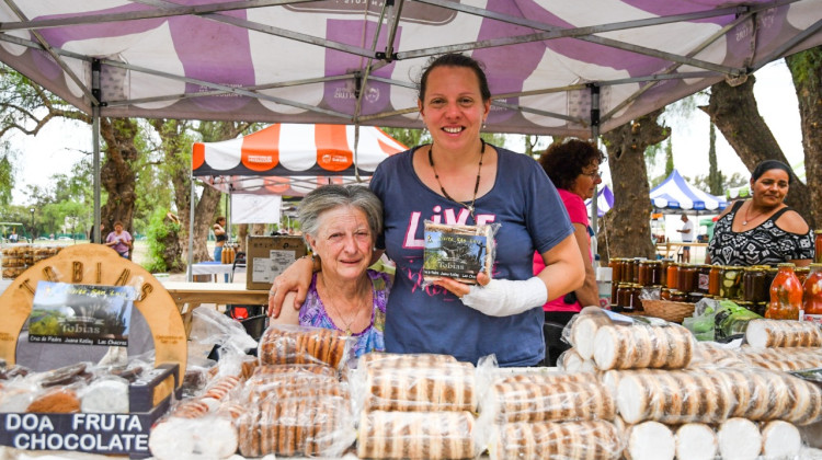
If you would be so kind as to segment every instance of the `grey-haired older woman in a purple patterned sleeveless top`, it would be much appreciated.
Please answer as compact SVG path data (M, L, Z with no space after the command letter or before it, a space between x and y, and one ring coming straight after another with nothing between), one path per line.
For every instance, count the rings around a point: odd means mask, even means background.
M368 269L383 231L379 198L361 186L326 185L302 199L299 222L322 269L313 275L299 311L284 309L271 322L342 331L356 337L355 356L385 349L391 279Z

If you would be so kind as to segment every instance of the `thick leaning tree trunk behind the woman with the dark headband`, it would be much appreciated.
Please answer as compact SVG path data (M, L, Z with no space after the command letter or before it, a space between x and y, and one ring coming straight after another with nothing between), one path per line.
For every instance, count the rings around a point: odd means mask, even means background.
M764 160L779 160L790 166L770 128L760 115L753 85L756 79L747 76L745 82L731 87L726 82L710 87L710 101L700 106L710 116L728 143L739 156L747 171L753 171ZM807 164L807 163L806 163ZM796 209L810 223L811 209L808 187L794 176L785 203Z

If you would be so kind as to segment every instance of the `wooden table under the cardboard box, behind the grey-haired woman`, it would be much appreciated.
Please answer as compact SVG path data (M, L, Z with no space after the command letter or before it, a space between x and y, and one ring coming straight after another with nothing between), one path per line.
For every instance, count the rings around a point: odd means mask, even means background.
M163 287L174 299L183 317L186 335L191 332L194 309L203 303L215 304L267 304L269 290L248 290L244 286L231 283L163 283Z

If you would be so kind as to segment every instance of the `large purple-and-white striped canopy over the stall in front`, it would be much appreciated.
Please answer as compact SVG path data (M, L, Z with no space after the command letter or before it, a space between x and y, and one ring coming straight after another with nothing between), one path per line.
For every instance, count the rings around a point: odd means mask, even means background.
M822 0L7 0L0 60L104 116L421 127L420 70L465 51L489 130L589 136L817 46L821 20Z

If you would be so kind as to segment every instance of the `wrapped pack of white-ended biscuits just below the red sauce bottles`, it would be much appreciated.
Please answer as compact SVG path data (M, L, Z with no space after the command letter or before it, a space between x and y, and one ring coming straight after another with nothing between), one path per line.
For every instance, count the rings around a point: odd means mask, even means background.
M820 347L822 331L811 321L751 320L745 329L745 342L754 348Z

